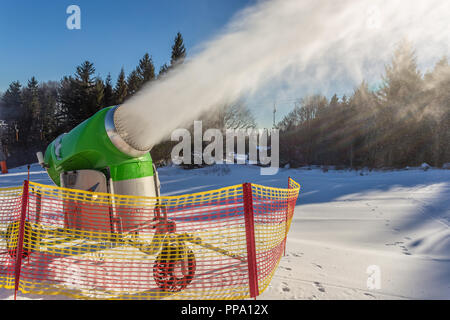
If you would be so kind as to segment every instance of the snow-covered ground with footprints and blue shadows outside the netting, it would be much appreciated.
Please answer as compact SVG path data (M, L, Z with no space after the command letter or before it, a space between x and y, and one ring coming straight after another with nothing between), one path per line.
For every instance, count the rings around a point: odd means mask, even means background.
M259 173L242 165L159 169L163 195L300 182L286 256L259 299L450 299L450 170ZM12 169L0 187L26 175L26 167ZM30 178L51 184L36 164ZM11 298L0 289L0 299Z

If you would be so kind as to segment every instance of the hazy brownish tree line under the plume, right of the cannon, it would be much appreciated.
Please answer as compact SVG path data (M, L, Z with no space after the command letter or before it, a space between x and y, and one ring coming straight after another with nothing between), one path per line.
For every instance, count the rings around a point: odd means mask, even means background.
M349 97L304 97L277 127L280 162L294 167L440 167L450 162L449 61L421 74L401 42L378 88L363 81Z

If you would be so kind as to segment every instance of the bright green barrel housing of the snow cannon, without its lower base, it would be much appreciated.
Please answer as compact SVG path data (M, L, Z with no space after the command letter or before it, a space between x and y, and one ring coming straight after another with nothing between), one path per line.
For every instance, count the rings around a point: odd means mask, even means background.
M134 182L134 187L125 194L152 196L155 190L136 191L136 181L151 179L145 184L153 185L155 174L150 149L137 150L125 142L126 130L119 134L117 123L121 123L116 111L118 106L104 108L83 121L69 133L56 138L47 147L42 161L53 182L61 186L61 174L77 170L96 170L105 174L115 184ZM117 119L119 118L119 119ZM138 183L139 184L139 183Z

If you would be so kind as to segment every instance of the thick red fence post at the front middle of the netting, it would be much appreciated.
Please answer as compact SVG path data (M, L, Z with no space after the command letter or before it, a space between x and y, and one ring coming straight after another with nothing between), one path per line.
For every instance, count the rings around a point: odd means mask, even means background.
M259 288L258 269L256 265L255 220L253 214L251 183L244 183L242 185L242 190L244 197L245 234L247 240L248 284L250 288L250 297L256 299L259 295Z

